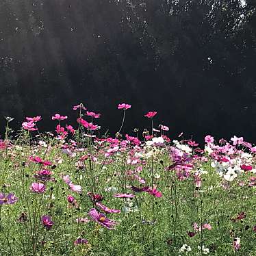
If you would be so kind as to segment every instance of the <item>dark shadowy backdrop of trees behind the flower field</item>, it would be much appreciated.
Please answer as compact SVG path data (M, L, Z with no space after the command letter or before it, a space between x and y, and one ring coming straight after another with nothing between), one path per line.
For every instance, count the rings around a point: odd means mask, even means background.
M256 141L256 2L1 0L0 131L12 116L70 116L82 102L118 130L155 124L199 141L234 134Z

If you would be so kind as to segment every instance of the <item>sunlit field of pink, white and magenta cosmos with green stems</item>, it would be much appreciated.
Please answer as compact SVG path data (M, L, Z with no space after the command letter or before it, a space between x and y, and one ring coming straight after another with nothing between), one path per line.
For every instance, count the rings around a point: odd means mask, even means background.
M101 114L27 117L0 140L0 255L256 255L256 147L166 125L99 136ZM155 126L154 126L155 125Z

